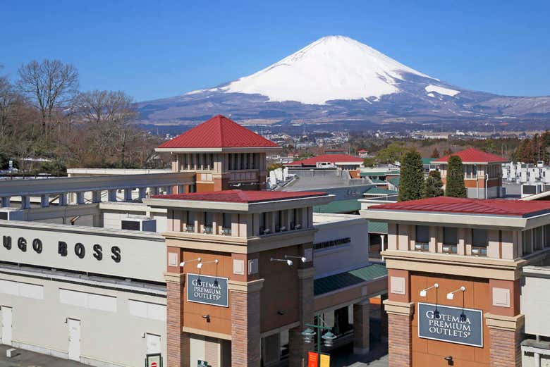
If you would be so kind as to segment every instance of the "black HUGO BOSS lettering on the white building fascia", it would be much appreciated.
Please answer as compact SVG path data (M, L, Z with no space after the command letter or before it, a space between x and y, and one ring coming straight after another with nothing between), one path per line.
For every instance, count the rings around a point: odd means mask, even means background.
M39 238L35 238L29 242L25 237L13 238L12 240L11 236L3 236L2 245L7 250L17 247L19 251L35 251L37 254L42 254L42 249L44 248L42 240ZM121 248L118 246L104 249L101 244L93 244L87 247L80 242L75 244L67 244L67 242L63 241L57 242L57 253L59 256L66 257L69 252L73 252L79 259L84 259L85 256L93 256L97 261L102 261L107 257L115 263L120 263L122 260Z

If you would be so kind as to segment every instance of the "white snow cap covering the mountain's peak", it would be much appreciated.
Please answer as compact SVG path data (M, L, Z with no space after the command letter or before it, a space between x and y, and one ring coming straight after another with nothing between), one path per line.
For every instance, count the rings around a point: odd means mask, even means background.
M345 36L317 39L257 73L221 87L223 92L262 94L269 101L325 104L401 92L404 74L429 77Z

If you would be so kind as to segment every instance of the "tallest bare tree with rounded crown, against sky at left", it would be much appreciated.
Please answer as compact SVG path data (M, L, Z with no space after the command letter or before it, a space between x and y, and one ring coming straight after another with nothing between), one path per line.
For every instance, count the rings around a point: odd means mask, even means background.
M18 87L39 109L42 132L56 109L68 106L78 91L78 70L59 60L31 61L18 70Z

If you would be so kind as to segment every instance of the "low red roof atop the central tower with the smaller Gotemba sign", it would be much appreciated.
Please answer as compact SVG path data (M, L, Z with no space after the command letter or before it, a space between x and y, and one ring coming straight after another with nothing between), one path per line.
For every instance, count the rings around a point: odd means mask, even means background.
M224 190L213 192L193 192L190 194L153 195L154 199L223 201L228 203L258 203L284 199L300 199L306 197L322 197L326 192L320 191L243 191Z

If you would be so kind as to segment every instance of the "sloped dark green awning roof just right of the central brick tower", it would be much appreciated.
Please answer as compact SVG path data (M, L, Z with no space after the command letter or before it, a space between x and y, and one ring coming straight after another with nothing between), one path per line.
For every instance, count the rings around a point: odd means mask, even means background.
M346 271L328 277L314 280L313 293L315 296L341 290L342 288L357 285L362 282L369 282L388 275L386 266L373 263L364 268Z

